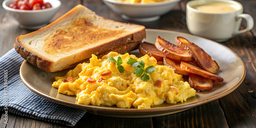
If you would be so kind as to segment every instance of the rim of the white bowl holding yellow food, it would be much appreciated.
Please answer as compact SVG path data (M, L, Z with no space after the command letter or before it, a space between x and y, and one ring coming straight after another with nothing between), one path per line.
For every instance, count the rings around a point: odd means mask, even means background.
M109 2L112 4L117 4L117 5L125 5L125 6L153 7L153 6L162 6L162 5L166 5L166 4L177 3L181 0L169 0L169 1L164 1L164 2L146 3L146 4L140 4L140 3L131 4L131 3L125 3L125 2L120 2L120 1L116 1L116 0L102 0L102 1Z

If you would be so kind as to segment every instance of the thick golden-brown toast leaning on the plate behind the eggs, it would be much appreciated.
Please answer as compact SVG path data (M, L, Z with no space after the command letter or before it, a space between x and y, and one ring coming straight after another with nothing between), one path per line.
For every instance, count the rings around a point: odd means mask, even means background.
M77 5L46 27L18 36L14 48L32 65L56 72L86 61L92 54L130 52L145 35L144 26L116 22Z

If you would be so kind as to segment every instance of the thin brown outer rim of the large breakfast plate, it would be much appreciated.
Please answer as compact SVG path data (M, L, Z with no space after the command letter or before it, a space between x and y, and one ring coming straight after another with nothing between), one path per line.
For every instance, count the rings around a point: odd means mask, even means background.
M177 32L177 31L172 31L172 30L146 29L146 31L164 31L164 32L181 33L181 34L185 34L185 35L189 35L189 36L196 36L196 35L191 35L189 33ZM200 36L196 36L196 37L203 38L203 37L200 37ZM206 38L204 38L204 39L206 39ZM209 39L207 39L207 40L209 40ZM213 41L213 40L209 40L209 41ZM20 73L20 78L22 79L24 84L27 86L27 88L29 88L32 92L39 95L40 97L46 98L48 100L51 100L53 102L56 102L56 103L59 103L59 104L62 104L62 105L70 106L72 108L83 109L83 110L88 111L89 113L93 113L93 114L97 114L97 115L103 115L103 116L109 116L109 117L126 117L126 118L140 118L140 117L154 117L154 116L169 115L169 114L173 114L173 113L178 113L178 112L176 112L177 110L179 110L179 112L185 111L185 110L194 108L196 106L199 106L199 105L202 105L202 104L220 99L220 98L230 94L234 90L236 90L240 86L240 84L243 82L243 80L245 78L245 75L246 75L246 67L245 67L245 64L242 61L242 59L238 56L237 53L235 53L233 50L231 50L227 46L224 46L224 45L222 45L222 44L220 44L216 41L213 41L213 42L215 42L215 43L221 45L222 47L225 47L229 51L231 51L238 58L238 60L242 62L243 74L242 74L241 78L238 80L238 82L236 84L234 84L232 86L232 88L229 88L228 90L225 90L224 92L221 92L217 95L208 97L204 100L191 102L191 103L188 103L188 104L185 104L185 105L180 104L180 105L176 105L175 107L174 106L164 106L164 107L150 108L150 109L122 109L122 108L108 108L108 106L102 107L102 106L97 106L97 105L76 104L76 103L73 103L73 102L70 102L70 101L57 99L55 97L49 96L46 93L41 92L41 91L36 90L35 88L33 88L33 86L31 86L26 81L24 76L22 75L22 67L27 62L26 60L24 60L22 65L20 66L19 73ZM108 112L105 113L106 111L108 111ZM155 114L152 114L152 111L155 112ZM109 113L113 113L113 112L119 113L119 114L118 115L117 114L116 115L109 115ZM151 112L151 114L148 113L148 112ZM132 114L132 113L136 113L136 114ZM127 115L127 114L129 114L129 115ZM144 114L144 115L139 115L138 116L138 114Z

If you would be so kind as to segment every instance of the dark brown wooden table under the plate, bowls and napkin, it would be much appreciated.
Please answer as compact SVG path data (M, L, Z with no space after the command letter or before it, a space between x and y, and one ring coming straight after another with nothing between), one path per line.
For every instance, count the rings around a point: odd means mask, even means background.
M244 6L244 12L254 18L251 31L234 36L221 42L236 52L246 66L246 76L242 84L227 96L172 115L151 118L114 118L85 114L75 127L256 127L256 1L237 0ZM14 40L21 34L32 32L20 29L4 11L0 1L0 56L13 48ZM120 15L106 7L101 0L61 0L62 5L51 22L78 4L95 11L98 15L125 22ZM172 11L161 16L160 20L151 23L135 23L147 29L164 29L189 33L185 19L185 5L182 0ZM243 21L241 29L246 27ZM228 28L227 28L228 29ZM9 114L6 125L1 112L0 127L67 127L55 123L43 122Z

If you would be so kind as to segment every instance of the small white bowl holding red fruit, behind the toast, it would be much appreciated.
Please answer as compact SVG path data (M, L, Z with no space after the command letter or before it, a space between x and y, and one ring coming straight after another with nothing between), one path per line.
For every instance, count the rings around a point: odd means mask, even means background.
M20 28L36 30L48 24L49 20L56 14L60 8L60 1L58 0L44 0L49 2L52 8L41 10L19 10L9 7L9 4L14 0L5 0L3 7L10 16L19 23Z

